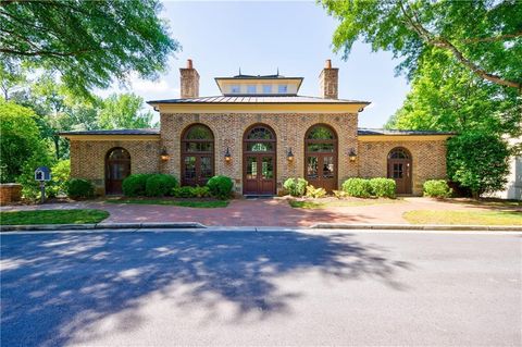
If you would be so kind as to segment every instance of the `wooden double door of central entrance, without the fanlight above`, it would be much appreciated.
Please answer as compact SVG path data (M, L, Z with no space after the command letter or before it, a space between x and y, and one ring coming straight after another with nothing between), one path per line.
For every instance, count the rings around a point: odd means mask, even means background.
M275 154L246 153L245 162L245 195L275 194Z

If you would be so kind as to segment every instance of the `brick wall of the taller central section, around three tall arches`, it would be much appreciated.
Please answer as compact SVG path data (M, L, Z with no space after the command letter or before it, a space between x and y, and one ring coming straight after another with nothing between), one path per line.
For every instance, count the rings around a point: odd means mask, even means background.
M304 134L314 124L326 124L334 128L338 136L338 185L350 176L357 175L357 164L349 161L348 153L357 148L357 114L161 114L161 147L165 147L171 159L163 164L161 171L179 177L181 175L181 136L186 127L201 123L214 134L215 174L234 179L236 191L243 191L243 138L245 131L253 124L266 124L275 132L277 142L276 172L277 189L288 177L304 176ZM232 154L231 163L225 163L226 148ZM288 163L288 149L295 156Z

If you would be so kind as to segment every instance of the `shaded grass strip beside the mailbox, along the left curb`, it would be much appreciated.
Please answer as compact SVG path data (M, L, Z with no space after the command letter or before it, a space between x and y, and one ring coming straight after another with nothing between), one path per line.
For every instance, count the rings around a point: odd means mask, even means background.
M38 210L0 212L1 225L28 224L88 224L99 223L109 216L101 210Z

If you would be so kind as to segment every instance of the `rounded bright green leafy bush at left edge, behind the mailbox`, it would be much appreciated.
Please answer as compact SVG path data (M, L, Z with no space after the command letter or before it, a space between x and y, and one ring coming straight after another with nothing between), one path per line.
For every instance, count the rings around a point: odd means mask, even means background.
M13 102L0 100L0 181L15 182L30 164L48 164L47 146L40 139L35 113ZM24 169L25 166L26 170Z

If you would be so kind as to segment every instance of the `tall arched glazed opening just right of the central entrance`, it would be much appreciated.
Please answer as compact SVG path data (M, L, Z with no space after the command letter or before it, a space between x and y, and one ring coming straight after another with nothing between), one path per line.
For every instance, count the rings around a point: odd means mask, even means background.
M326 191L337 189L337 135L324 124L311 126L304 136L306 179Z

